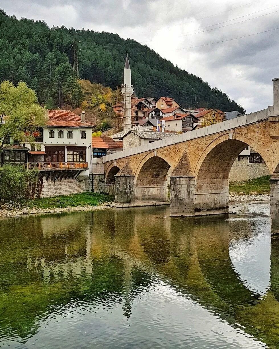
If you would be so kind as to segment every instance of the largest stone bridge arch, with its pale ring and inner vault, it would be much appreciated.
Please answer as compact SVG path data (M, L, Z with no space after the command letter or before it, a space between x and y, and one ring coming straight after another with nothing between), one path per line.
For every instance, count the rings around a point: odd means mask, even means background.
M240 133L227 133L211 142L195 168L195 214L226 213L229 207L229 172L247 145L263 157L270 172L272 162L259 144Z

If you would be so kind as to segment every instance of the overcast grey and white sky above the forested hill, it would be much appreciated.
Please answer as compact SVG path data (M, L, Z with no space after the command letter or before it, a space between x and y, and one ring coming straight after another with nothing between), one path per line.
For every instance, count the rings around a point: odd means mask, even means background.
M278 0L1 0L0 7L50 27L133 38L223 90L247 112L273 104L279 29L268 30L279 28ZM251 36L262 31L268 32Z

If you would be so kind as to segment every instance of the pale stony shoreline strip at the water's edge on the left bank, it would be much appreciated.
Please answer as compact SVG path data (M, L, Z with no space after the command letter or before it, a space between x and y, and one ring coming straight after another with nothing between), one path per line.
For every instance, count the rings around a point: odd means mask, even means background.
M42 214L42 213L61 213L61 212L73 212L73 211L96 211L108 208L108 205L99 206L76 206L76 207L52 207L52 208L0 208L0 217L19 217L31 214Z

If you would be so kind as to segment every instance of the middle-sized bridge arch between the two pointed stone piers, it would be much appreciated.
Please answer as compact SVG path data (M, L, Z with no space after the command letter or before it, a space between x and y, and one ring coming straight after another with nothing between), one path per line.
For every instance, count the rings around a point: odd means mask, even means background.
M159 152L146 155L136 170L135 199L139 201L167 201L167 174L171 165Z

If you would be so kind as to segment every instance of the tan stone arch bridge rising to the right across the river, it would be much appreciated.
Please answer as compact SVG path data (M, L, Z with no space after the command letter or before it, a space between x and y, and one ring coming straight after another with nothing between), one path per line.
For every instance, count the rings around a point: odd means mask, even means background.
M167 201L170 178L171 216L228 212L228 176L247 145L268 166L272 214L279 214L279 111L269 107L216 125L111 154L93 164L104 176L115 202ZM272 108L272 109L271 109Z

